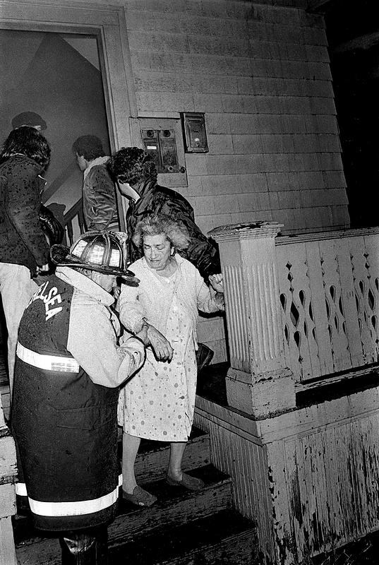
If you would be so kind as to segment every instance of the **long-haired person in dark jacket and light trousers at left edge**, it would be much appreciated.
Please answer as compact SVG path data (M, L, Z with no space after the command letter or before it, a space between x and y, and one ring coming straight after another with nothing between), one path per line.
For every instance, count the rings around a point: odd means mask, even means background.
M50 148L37 129L20 126L0 149L0 292L8 330L12 391L18 324L37 288L32 277L49 270L49 244L40 222Z

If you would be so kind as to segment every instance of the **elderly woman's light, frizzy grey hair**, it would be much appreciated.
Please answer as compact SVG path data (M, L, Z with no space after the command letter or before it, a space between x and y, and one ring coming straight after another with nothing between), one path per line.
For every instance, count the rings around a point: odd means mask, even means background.
M133 243L143 249L143 239L146 235L165 235L174 249L182 251L190 244L190 234L181 220L172 220L166 214L150 214L136 225Z

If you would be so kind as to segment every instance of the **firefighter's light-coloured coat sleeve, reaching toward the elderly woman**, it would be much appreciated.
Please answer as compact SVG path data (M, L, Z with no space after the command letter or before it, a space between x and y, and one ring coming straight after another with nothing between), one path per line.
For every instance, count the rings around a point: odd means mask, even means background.
M83 304L78 297L71 304L67 349L90 376L92 382L114 388L130 378L145 360L145 346L131 337L116 345L116 335L106 307Z

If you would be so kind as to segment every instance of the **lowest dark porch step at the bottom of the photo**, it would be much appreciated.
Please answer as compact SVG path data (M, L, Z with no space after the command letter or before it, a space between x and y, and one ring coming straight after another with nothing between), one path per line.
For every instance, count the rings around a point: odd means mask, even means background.
M112 565L260 565L255 528L234 510L143 535L109 550Z

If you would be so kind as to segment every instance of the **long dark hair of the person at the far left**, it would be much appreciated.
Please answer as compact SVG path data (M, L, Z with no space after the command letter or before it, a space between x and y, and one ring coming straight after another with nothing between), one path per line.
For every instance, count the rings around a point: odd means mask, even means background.
M0 163L21 153L36 161L45 171L50 163L50 147L42 133L30 126L21 126L9 133L0 148Z

